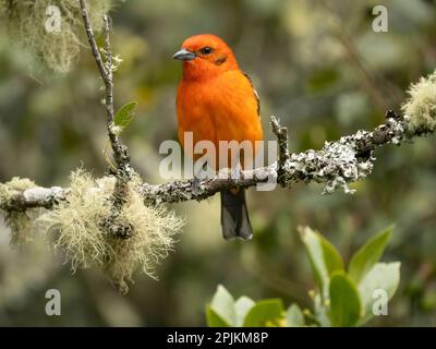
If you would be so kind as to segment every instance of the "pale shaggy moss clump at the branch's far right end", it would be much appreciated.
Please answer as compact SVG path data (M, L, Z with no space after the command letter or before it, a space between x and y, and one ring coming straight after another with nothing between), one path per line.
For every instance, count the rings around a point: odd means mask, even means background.
M408 131L413 134L436 131L436 72L421 77L408 93L410 97L401 107L408 117Z

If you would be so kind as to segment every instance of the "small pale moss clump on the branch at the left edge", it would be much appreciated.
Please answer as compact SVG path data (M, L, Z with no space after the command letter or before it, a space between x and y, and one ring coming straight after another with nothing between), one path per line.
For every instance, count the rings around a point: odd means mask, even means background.
M32 240L31 230L32 219L26 212L8 210L12 197L23 190L35 188L36 184L29 179L12 178L7 183L0 183L0 207L4 208L7 214L4 220L11 229L11 245L26 243Z

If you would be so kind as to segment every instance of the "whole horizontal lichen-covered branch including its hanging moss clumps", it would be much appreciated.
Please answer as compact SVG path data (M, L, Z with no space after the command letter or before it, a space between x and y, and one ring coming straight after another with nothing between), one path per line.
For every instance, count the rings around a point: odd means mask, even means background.
M290 154L287 129L271 117L279 147L277 161L245 170L238 179L217 176L195 185L193 180L154 185L144 183L133 170L123 174L120 166L114 177L97 180L82 170L72 172L70 188L64 189L40 188L28 179L14 178L0 183L0 209L5 212L13 244L26 241L35 229L55 232L53 244L65 251L73 269L99 268L125 293L135 269L154 277L154 265L172 249L173 236L183 225L161 203L201 201L222 190L266 181L283 188L318 182L325 184L324 193L337 189L352 193L348 183L372 172L377 147L400 145L436 131L436 73L422 79L409 93L402 117L388 111L386 122L375 130L326 142L320 151ZM46 209L29 209L37 207ZM32 221L35 212L37 218Z

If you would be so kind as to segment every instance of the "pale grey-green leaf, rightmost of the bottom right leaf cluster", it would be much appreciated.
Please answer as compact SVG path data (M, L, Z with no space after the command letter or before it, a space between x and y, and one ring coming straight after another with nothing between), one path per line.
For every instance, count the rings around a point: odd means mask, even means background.
M370 273L363 278L359 285L359 292L361 294L364 314L360 321L363 325L373 316L373 305L377 301L374 298L374 291L384 290L387 294L387 300L390 300L397 291L400 284L400 262L392 263L377 263Z

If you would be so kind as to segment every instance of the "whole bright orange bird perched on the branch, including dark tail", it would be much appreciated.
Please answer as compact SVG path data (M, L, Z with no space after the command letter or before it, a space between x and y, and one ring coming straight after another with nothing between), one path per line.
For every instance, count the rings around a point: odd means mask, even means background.
M177 96L180 142L184 132L192 132L194 146L210 141L219 158L219 141L249 141L254 157L254 143L262 140L259 100L229 46L215 35L196 35L173 58L183 61ZM221 228L225 239L252 238L243 189L221 192Z

